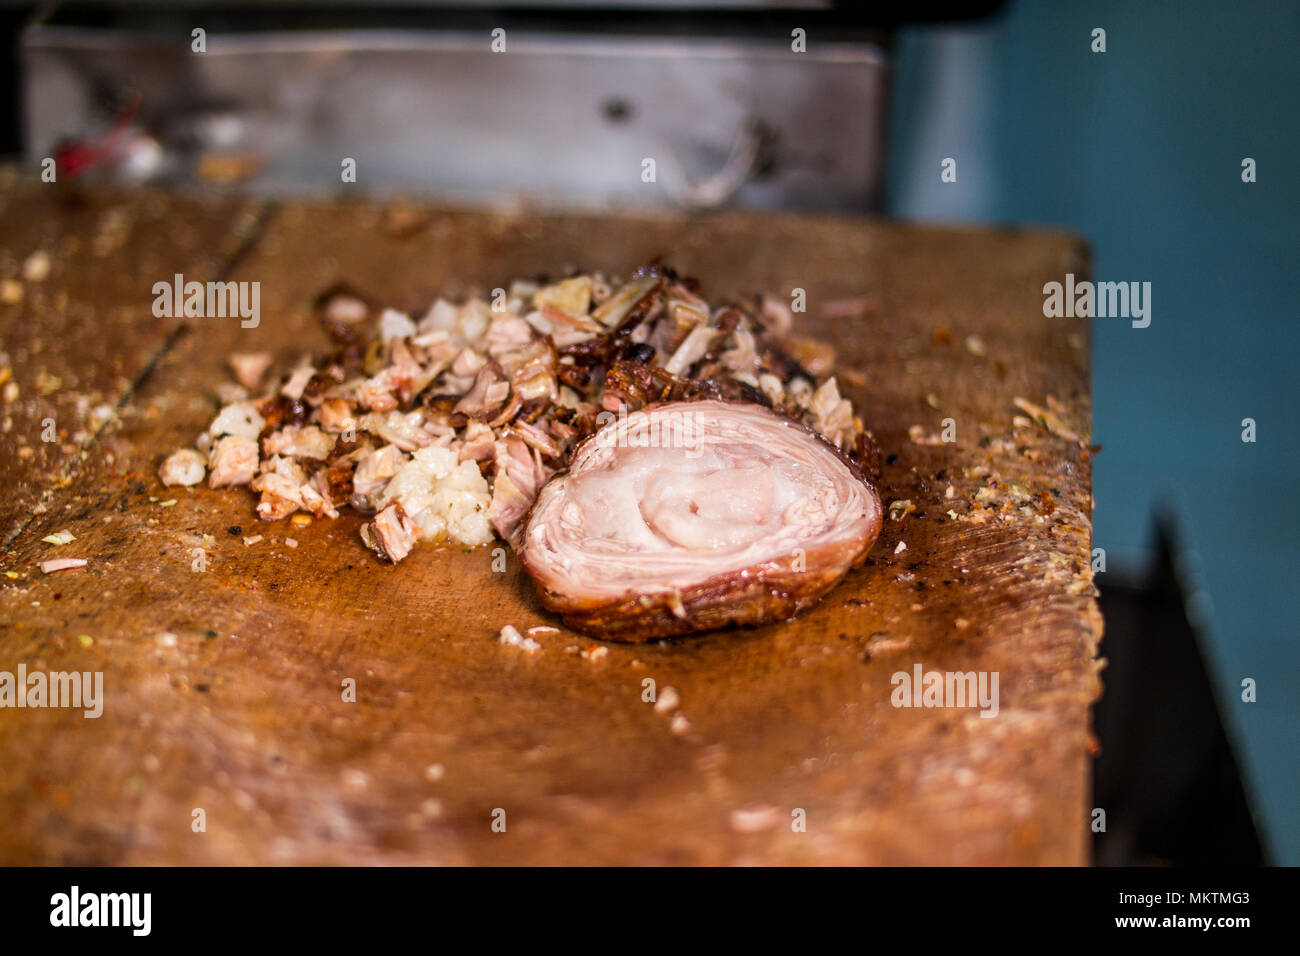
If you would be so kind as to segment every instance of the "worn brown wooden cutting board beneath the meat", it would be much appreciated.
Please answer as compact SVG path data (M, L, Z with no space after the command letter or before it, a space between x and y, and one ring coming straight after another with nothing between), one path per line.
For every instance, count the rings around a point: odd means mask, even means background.
M101 671L104 705L0 709L0 862L1087 861L1088 329L1043 316L1043 284L1087 272L1079 241L12 185L3 202L0 278L23 297L0 303L21 386L0 408L0 671ZM105 216L118 234L95 246ZM48 276L23 281L42 250ZM881 498L914 506L794 622L644 646L562 632L528 654L499 628L555 622L512 554L500 572L490 548L391 567L355 516L265 524L246 490L157 483L214 414L229 352L283 367L325 346L311 303L337 281L420 312L655 256L714 297L803 289L888 457ZM155 319L176 272L260 282L260 325ZM64 381L39 395L43 367ZM88 392L101 427L78 416ZM1014 424L1017 398L1049 395L1050 429ZM57 454L42 402L68 432ZM42 574L53 557L88 564ZM918 665L996 672L997 715L894 706Z

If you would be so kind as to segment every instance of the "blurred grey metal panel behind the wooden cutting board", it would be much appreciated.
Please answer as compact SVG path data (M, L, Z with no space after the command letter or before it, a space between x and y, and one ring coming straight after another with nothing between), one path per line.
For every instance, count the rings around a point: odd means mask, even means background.
M339 61L347 61L351 66L351 70L344 73L359 74L367 66L390 68L394 56L421 57L428 53L443 53L462 59L467 69L458 74L456 79L462 81L459 85L434 85L433 88L439 88L441 92L452 90L450 98L439 98L456 100L460 109L452 108L452 113L481 116L484 109L474 109L471 104L482 103L485 90L490 90L494 82L499 86L502 73L500 55L493 53L481 35L329 30L211 34L207 39L207 52L202 55L203 69L196 69L200 65L199 55L188 51L187 36L177 36L168 43L164 36L135 31L40 23L30 26L22 38L29 160L49 155L53 143L60 138L73 131L92 129L96 121L104 122L105 117L95 116L87 92L92 81L126 87L148 73L161 75L170 72L174 75L169 82L153 83L155 88L161 88L165 94L155 92L151 99L159 99L161 95L174 99L177 92L188 85L194 88L195 96L205 91L220 91L222 87L225 88L222 95L229 96L231 88L243 88L243 99L234 98L237 107L265 107L281 83L300 86L304 77L309 82L311 70L303 68L311 62L324 60L333 64L333 75L320 81L333 82L339 77L337 66ZM878 204L888 77L887 57L879 47L836 42L816 44L811 52L794 53L786 44L775 40L512 34L508 51L511 70L552 75L559 70L560 78L571 85L569 95L575 100L588 94L625 95L628 85L623 81L629 64L646 70L647 83L646 87L638 88L638 95L651 104L658 99L655 91L650 88L654 83L660 86L660 91L668 90L679 98L686 95L685 91L689 88L693 109L666 113L671 117L675 151L681 151L685 156L684 166L693 165L698 170L707 169L710 163L716 164L716 157L727 153L729 135L742 125L746 117L741 114L746 112L757 113L786 147L794 143L803 155L819 156L818 161L823 168L810 174L809 169L800 169L798 163L793 169L789 168L789 157L798 156L800 152L786 150L784 157L777 156L776 176L768 174L766 181L751 179L740 189L736 199L742 206L867 212L875 209ZM381 64L376 57L386 57L389 62ZM671 69L666 69L670 64ZM789 66L798 66L798 70L788 70ZM403 86L400 79L394 81L389 77L390 86L374 86L367 91L369 99L363 101L369 105L370 101L380 99L406 96L410 107L406 116L411 117L411 124L407 125L410 129L410 125L417 124L421 112L429 113L432 109L434 98L428 95L430 85L424 81L437 69L433 61L411 60L407 73L403 74L410 81L404 85L407 88L400 88ZM727 69L741 73L748 70L741 81L745 88L740 94L736 90L736 75L718 73ZM576 74L584 70L594 70L599 82L593 85L588 78L575 82ZM781 82L771 82L767 74L774 70L785 72ZM250 72L260 73L263 77L264 83L260 90L250 88ZM599 92L592 92L593 90ZM545 83L524 81L507 92L511 100L516 96L521 99L533 96L541 101L549 95ZM667 99L671 100L672 96ZM774 105L783 99L800 100L800 107L781 111ZM497 101L498 105L499 103L500 100ZM844 112L845 104L852 104L854 109ZM320 108L320 100L312 105ZM566 109L567 121L585 117L585 122L580 121L575 130L567 131L568 140L575 137L581 139L585 135L588 140L584 146L603 146L606 151L615 152L619 151L620 139L623 146L627 146L629 139L627 126L614 127L601 122L595 118L595 111L580 113L578 104L572 100L568 105L573 108ZM584 109L588 105L590 104L584 104ZM835 107L838 107L838 113ZM278 104L278 108L282 109L283 104ZM530 153L532 163L528 166L512 166L506 170L511 174L502 176L502 182L510 182L511 186L504 194L523 196L536 194L533 198L543 202L559 200L578 206L601 206L611 200L637 206L671 204L671 198L662 189L647 191L630 177L625 182L616 181L590 163L585 163L581 156L556 153L554 140L538 137L529 139L529 122L545 116L547 109L554 113L555 104L551 103L549 107L542 104L540 109L514 111L523 122L517 127L521 139L512 146ZM344 107L339 104L335 118L343 117L343 111ZM647 111L650 114L655 112L654 105ZM294 117L287 120L291 125ZM465 130L447 126L446 117L442 117L442 121L445 125L437 127L441 140L473 142L472 130L467 135ZM337 125L337 130L347 127L346 120ZM500 133L502 129L510 129L510 125L499 124L495 131ZM666 131L651 129L650 139L655 135L662 138ZM391 156L400 156L403 148L400 139L396 129L391 130L386 143L382 130L369 129L365 135L354 137L348 142L367 142L372 153L384 155L385 150L390 150ZM632 152L645 153L650 139L638 140L637 148ZM261 144L265 146L266 142L270 140L264 138ZM540 144L550 148L552 153L538 157ZM335 148L330 143L304 142L303 146L308 152L329 153L333 157L348 155L342 144ZM499 142L497 147L499 152ZM406 143L404 148L410 150L411 144ZM845 150L849 155L844 152ZM291 152L290 150L289 153ZM584 148L582 152L593 151ZM637 159L625 148L623 152L627 155L618 160L620 163ZM324 168L312 168L311 163L302 163L302 156L295 160L289 153L277 156L270 151L268 174L256 177L246 183L246 187L254 191L300 193L329 191L332 186L338 185L324 176L326 173ZM294 165L295 161L298 166ZM441 173L416 169L411 164L403 166L400 160L390 164L389 169L381 163L378 166L381 176L369 178L363 191L412 189L471 199L499 199L502 190L485 189L482 182L474 181L482 161L482 152L455 157L442 166ZM489 156L489 165L493 157ZM530 182L530 170L536 174L541 169L547 170L550 178L541 177L540 181ZM563 176L555 177L555 170L566 169L572 169L572 176L567 179ZM410 179L403 181L404 176Z

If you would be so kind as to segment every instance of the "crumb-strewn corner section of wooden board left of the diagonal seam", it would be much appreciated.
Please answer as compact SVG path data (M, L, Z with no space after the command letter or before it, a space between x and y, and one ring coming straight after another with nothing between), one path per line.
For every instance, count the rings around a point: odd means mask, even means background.
M257 215L252 203L122 203L14 179L0 168L0 377L18 389L0 408L0 544L174 333L177 323L152 317L142 287L176 273L214 278Z

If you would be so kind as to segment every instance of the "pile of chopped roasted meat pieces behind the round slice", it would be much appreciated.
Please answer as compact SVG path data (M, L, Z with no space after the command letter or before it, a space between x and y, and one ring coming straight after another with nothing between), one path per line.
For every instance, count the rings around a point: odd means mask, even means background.
M164 484L247 486L268 522L350 507L370 515L367 546L398 562L420 541L517 549L577 444L651 403L763 406L874 463L836 380L818 381L833 351L793 336L788 307L714 306L668 268L516 281L491 303L438 299L419 317L346 287L317 306L334 351L272 384L270 355L231 356L238 384L221 386L195 446L161 463Z

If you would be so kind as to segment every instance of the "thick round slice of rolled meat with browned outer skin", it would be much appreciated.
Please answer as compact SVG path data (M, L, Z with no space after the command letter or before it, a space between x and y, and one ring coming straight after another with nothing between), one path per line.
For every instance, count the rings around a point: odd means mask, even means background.
M573 451L528 515L520 561L567 624L641 641L794 617L866 557L880 514L858 467L805 425L671 402Z

